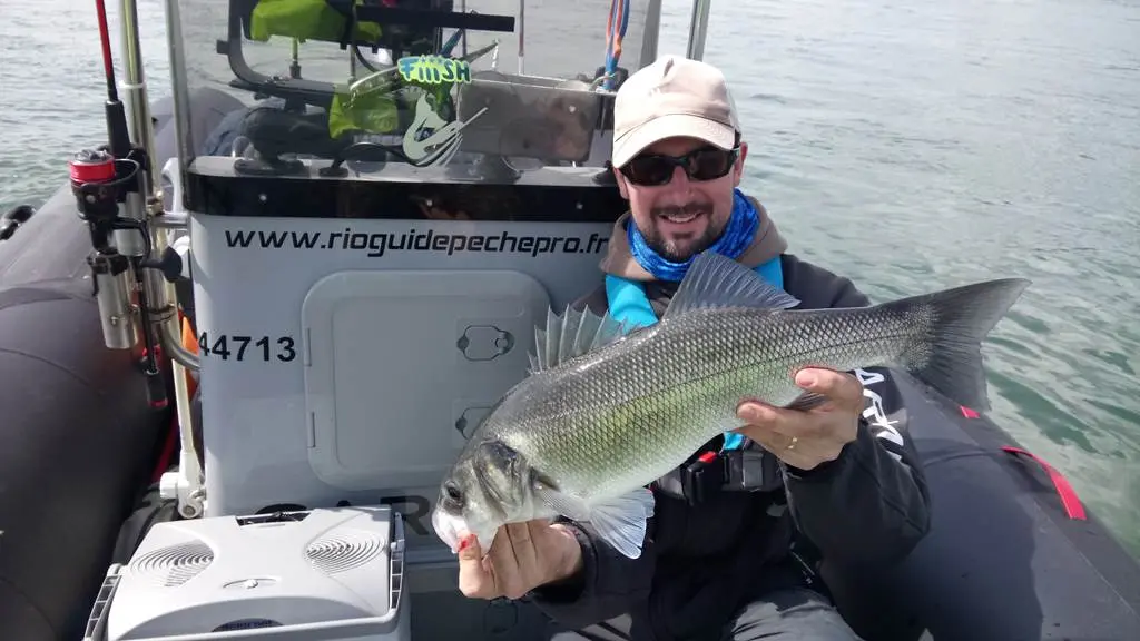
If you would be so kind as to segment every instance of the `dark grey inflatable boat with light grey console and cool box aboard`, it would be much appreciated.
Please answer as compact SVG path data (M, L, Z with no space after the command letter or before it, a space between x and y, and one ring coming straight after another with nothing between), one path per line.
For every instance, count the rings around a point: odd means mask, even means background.
M660 1L169 0L153 106L135 0L125 99L97 5L106 146L0 225L0 638L547 639L458 592L427 514L596 285ZM1140 639L1140 563L1061 472L903 381L933 528L874 575L824 563L852 626Z

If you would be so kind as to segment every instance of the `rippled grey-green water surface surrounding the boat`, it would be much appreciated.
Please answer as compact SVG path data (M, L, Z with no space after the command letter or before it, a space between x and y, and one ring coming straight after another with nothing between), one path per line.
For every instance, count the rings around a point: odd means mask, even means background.
M104 84L92 2L0 16L7 210L104 136ZM687 19L666 2L662 51L684 51ZM160 97L162 3L140 21ZM746 186L795 252L880 300L1033 279L988 343L995 419L1140 553L1137 0L714 2L708 41L751 144Z

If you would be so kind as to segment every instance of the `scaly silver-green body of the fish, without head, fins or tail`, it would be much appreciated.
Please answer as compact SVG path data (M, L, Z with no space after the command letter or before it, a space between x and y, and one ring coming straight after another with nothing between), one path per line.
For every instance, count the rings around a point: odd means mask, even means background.
M504 415L489 433L560 487L605 496L632 480L649 482L678 452L740 427L740 398L790 403L803 391L793 376L805 364L849 370L889 360L905 348L904 320L873 309L715 309L670 318L601 359L532 376L534 389L521 392L530 398L519 404L528 417Z

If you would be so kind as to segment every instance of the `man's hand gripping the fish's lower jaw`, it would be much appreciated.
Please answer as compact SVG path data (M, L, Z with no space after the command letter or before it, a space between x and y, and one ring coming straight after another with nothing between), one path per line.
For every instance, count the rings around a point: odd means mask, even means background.
M459 547L459 591L473 599L519 599L580 569L581 545L573 533L545 520L500 527L486 559L474 537Z

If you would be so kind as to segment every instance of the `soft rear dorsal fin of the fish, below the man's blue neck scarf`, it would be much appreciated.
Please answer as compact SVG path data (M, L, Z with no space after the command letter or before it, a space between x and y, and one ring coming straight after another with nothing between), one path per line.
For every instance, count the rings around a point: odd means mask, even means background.
M780 290L756 271L714 251L693 259L689 271L673 294L661 319L695 309L748 307L752 309L788 309L799 300Z

